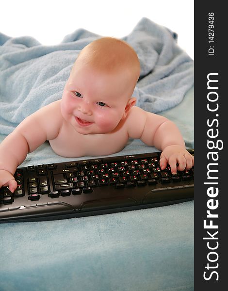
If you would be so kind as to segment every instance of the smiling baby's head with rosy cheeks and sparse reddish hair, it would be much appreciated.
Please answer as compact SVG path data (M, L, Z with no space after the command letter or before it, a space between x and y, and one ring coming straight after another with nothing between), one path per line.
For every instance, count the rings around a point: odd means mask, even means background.
M82 134L114 130L136 102L131 96L139 74L137 54L126 42L93 41L81 50L66 82L64 118Z

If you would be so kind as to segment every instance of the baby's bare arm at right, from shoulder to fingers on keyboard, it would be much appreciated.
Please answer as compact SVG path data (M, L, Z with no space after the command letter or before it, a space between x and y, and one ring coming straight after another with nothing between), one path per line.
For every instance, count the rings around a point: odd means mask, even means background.
M177 170L190 169L194 165L194 158L186 150L183 137L172 121L138 107L133 107L132 113L130 119L136 119L137 122L133 126L131 124L130 137L140 138L146 145L162 150L160 159L162 169L168 163L172 173L175 174Z

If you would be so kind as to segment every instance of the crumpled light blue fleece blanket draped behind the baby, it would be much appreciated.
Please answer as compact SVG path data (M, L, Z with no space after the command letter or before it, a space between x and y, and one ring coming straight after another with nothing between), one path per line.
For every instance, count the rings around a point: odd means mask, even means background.
M84 29L55 46L33 37L0 33L0 134L9 134L27 115L62 97L70 69L83 47L100 35ZM177 34L147 18L123 37L141 65L133 96L158 113L176 106L194 82L193 61L177 44Z

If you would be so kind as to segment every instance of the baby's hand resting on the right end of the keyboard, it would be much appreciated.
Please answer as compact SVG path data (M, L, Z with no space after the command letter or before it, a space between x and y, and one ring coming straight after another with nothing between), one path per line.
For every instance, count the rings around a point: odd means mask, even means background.
M177 167L177 163L179 164ZM189 170L194 166L194 157L183 146L166 146L161 153L160 166L165 169L167 164L170 165L172 174L177 170Z

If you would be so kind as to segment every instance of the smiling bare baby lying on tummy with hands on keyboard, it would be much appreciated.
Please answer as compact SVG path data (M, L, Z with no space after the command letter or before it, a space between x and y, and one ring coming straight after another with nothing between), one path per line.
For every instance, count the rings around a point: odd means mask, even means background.
M141 139L162 150L162 169L190 169L194 158L177 126L135 106L139 74L138 57L122 40L104 37L82 49L62 99L25 118L0 144L0 187L14 192L17 166L47 140L58 155L75 158L113 154L129 138Z

